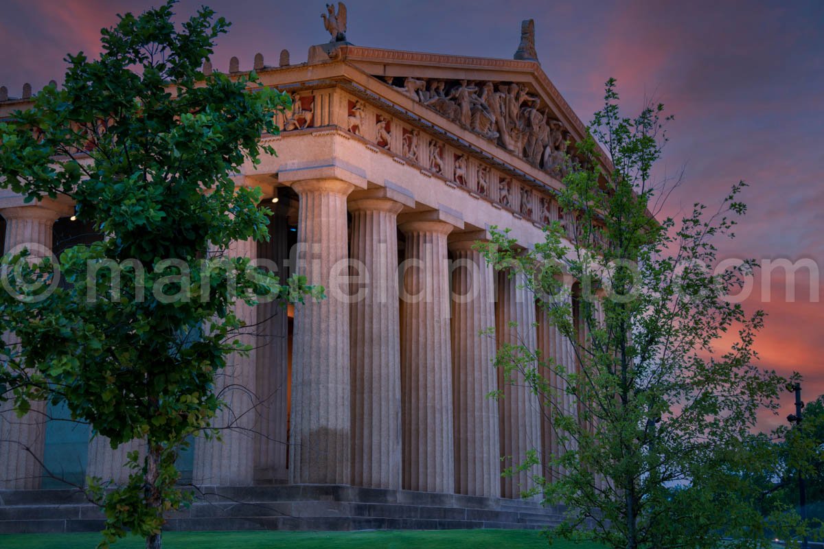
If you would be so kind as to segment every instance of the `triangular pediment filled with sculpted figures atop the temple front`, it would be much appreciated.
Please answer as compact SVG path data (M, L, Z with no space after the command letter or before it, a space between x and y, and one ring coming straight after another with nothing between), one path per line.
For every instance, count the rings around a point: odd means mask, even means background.
M556 179L585 128L534 61L345 46L337 58Z

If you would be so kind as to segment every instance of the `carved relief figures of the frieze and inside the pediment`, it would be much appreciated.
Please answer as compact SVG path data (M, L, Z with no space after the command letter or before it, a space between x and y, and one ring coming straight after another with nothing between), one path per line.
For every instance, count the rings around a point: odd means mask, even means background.
M494 82L477 86L461 81L450 88L446 81L407 80L405 89L410 95L434 109L452 109L458 123L471 131L495 139L499 130L506 132L513 147L522 151L525 158L555 170L553 173L569 164L564 157L569 143L564 138L563 126L547 118L540 100L526 87L506 84L496 88ZM452 147L407 121L375 109L366 100L353 95L344 95L342 99L339 105L345 110L340 113L344 114L341 125L367 139L370 150L389 151L399 163L419 165L424 174L438 175L473 193L475 198L483 197L508 208L517 218L544 224L558 219L557 202L545 190L532 188L513 175L496 170L466 148ZM292 108L283 114L283 131L318 125L324 105L317 92L293 92Z

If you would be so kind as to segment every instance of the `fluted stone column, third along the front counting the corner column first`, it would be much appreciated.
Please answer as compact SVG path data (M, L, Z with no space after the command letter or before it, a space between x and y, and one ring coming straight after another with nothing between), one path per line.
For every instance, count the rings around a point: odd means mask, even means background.
M408 221L400 299L403 487L455 491L449 271L444 221Z

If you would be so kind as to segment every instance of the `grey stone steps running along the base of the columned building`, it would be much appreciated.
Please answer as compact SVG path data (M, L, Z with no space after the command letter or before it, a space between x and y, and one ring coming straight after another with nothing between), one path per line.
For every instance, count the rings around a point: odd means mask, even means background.
M545 528L562 507L526 500L337 485L207 486L166 530ZM73 490L0 491L0 533L94 532L104 518Z

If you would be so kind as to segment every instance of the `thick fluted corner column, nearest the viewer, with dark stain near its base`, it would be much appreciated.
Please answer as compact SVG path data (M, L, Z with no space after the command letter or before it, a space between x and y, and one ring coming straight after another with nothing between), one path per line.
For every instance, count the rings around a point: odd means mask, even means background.
M346 197L353 185L339 179L294 183L297 272L324 286L327 299L295 306L292 432L289 481L348 484L351 480L349 304L336 295L347 258ZM333 272L333 268L336 269ZM344 270L344 272L340 272Z

